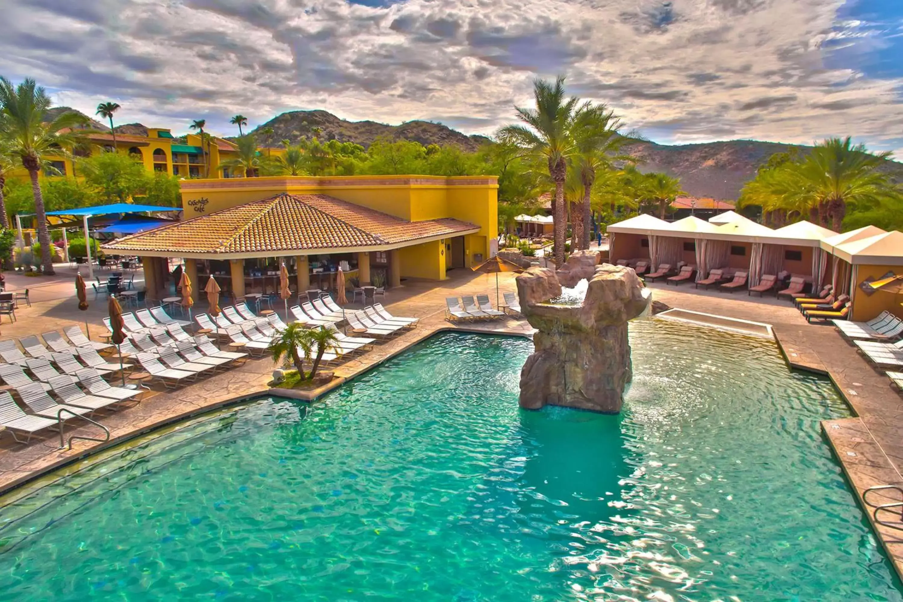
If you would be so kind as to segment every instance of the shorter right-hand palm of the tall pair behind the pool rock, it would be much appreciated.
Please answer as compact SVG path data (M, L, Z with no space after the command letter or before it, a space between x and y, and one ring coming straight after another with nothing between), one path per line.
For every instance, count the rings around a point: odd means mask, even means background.
M591 192L596 181L596 171L610 168L614 160L626 157L616 156L628 138L619 135L620 118L605 105L586 103L574 116L572 137L576 152L573 164L580 172L583 185L581 210L573 214L573 248L590 248Z

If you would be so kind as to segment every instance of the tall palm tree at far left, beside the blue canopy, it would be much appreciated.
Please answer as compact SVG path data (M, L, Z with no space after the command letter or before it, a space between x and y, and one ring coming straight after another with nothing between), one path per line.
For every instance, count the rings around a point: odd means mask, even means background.
M51 99L46 90L33 79L23 79L22 83L14 86L9 79L0 76L0 138L5 140L8 152L22 163L32 181L41 264L47 274L53 273L51 236L47 230L47 213L38 174L42 167L48 165L46 155L59 153L61 148L71 148L76 144L79 138L71 130L87 122L85 116L69 112L49 124L43 123L43 117L50 108Z

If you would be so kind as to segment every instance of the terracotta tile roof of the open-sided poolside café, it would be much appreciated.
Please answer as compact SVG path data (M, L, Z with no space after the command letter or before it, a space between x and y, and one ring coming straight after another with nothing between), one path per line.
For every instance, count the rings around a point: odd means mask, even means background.
M119 238L103 248L191 254L248 254L414 243L478 226L457 219L410 222L325 194L280 194Z

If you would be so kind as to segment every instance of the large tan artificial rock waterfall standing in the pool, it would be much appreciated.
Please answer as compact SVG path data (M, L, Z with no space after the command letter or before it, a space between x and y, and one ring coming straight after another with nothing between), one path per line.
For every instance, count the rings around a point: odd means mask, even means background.
M561 283L552 270L534 267L517 276L517 294L538 330L520 373L521 407L620 412L632 376L627 323L649 302L637 273L596 265L582 303L556 305L546 301L561 294Z

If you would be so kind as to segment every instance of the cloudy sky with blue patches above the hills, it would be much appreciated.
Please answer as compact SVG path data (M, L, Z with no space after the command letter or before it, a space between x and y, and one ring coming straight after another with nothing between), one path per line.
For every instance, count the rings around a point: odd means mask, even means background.
M668 144L903 154L903 0L0 0L0 74L185 131L285 110L491 134L567 77Z

